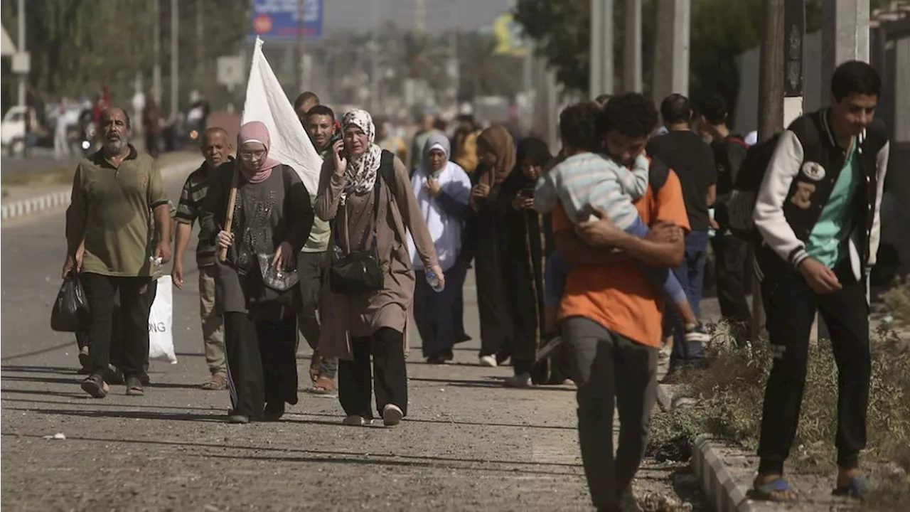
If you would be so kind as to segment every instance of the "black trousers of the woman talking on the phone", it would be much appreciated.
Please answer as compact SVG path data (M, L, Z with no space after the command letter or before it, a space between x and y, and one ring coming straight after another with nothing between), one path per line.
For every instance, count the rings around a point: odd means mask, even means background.
M372 418L370 391L375 390L379 415L387 404L398 405L408 415L408 370L402 333L382 327L369 338L354 338L350 348L353 359L339 360L339 402L345 414Z

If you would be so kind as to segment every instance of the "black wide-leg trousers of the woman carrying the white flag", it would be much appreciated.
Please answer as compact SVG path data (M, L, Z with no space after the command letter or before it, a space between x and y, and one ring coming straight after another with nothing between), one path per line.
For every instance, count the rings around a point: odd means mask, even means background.
M297 318L254 320L224 314L233 414L258 418L265 405L297 404Z

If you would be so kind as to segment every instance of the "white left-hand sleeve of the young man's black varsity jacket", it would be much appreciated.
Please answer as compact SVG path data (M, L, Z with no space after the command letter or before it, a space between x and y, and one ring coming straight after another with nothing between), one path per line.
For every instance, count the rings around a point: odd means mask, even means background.
M803 145L793 131L786 130L778 139L768 162L753 210L755 227L764 242L794 267L798 267L809 255L805 244L796 238L796 233L784 217L784 201L802 165Z

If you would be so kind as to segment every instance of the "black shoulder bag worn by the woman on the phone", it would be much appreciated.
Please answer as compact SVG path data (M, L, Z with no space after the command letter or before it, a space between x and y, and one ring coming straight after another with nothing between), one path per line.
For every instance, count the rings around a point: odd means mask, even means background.
M379 248L376 241L379 230L379 189L382 181L387 181L387 169L394 165L394 155L389 153L389 151L383 151L376 183L373 185L373 241L369 247L363 251L349 251L348 254L345 254L341 251L339 243L334 241L334 238L338 236L338 230L333 230L333 247L329 265L329 289L332 293L365 295L382 290L385 277L382 272L382 260L379 258ZM345 208L347 209L347 205ZM348 235L348 224L348 210L345 210L345 220L342 228L346 237ZM364 233L364 242L366 242L366 237L368 236L369 232Z

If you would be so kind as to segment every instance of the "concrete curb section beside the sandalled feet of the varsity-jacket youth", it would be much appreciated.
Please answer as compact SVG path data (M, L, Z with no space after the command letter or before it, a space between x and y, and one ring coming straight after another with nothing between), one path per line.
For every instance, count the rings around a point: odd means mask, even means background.
M695 438L692 469L716 512L753 512L752 502L723 466L723 459L714 450L707 435Z

